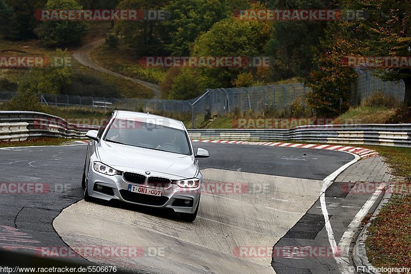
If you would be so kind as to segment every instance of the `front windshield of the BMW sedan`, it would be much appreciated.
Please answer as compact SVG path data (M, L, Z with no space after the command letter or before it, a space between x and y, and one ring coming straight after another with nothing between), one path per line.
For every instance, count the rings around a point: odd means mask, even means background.
M145 149L191 155L185 131L140 121L115 119L110 124L104 140Z

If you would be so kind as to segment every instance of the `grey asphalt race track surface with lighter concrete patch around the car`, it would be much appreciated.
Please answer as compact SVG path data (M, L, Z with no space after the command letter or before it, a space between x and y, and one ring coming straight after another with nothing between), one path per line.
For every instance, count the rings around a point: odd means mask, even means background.
M70 258L134 272L339 272L333 258L294 263L292 258L272 258L261 250L296 243L329 246L319 209L323 179L352 161L353 155L256 145L193 145L209 150L210 158L199 159L200 168L207 184L220 186L202 193L194 223L182 222L169 211L84 202L80 182L86 145L1 149L0 182L26 182L39 191L13 194L0 190L0 235L5 235L0 237L0 247L29 253L67 245L73 249L139 247L142 253L138 256L82 254L85 259ZM231 191L228 186L233 185L240 190ZM340 192L337 183L326 192L330 218L334 216L332 222L338 223L337 243L368 198L364 195L353 201ZM341 198L338 203L335 196ZM333 213L332 207L345 203L351 211L340 212L341 216ZM24 237L7 236L10 231ZM256 247L257 254L253 252Z

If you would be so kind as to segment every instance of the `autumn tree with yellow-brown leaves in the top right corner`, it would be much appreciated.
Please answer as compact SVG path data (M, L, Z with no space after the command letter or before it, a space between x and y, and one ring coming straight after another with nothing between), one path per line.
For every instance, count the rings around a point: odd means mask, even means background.
M411 2L409 0L345 1L346 8L368 10L369 17L350 22L356 38L361 41L357 52L361 56L398 56L411 54ZM402 79L405 83L404 103L411 106L411 68L379 69L384 80Z

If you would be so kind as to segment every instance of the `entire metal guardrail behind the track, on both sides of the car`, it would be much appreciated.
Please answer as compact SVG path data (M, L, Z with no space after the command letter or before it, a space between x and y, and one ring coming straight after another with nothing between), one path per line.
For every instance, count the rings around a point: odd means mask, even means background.
M35 137L85 138L96 125L70 124L39 112L0 111L0 141ZM293 129L201 129L189 130L192 139L391 145L411 147L411 124L303 125Z

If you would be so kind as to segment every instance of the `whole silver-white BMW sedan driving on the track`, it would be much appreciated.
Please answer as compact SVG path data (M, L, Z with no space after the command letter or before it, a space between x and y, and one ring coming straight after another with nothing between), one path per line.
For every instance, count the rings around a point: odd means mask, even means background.
M200 204L202 175L181 121L115 111L90 138L84 163L84 199L117 199L125 203L171 208L193 222Z

